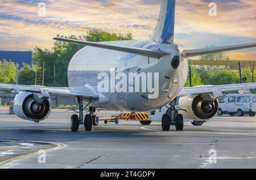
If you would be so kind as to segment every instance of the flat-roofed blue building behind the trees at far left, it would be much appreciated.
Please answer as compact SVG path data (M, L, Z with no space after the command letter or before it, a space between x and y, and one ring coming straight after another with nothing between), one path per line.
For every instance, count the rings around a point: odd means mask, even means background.
M0 51L0 61L6 59L18 63L19 68L23 67L23 63L32 66L32 52L13 52L13 51Z

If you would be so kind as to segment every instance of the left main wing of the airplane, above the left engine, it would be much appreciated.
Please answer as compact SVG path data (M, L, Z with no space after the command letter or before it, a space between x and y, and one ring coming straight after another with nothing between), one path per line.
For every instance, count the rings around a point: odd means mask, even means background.
M16 85L16 84L1 84L0 89L10 90L14 93L19 91L41 93L42 95L59 95L65 97L82 96L88 100L97 100L98 96L91 87L85 85L83 87L44 87L40 85Z

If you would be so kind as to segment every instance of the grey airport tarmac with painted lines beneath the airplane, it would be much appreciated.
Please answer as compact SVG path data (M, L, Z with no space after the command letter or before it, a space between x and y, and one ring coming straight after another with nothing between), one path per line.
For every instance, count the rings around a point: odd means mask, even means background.
M201 127L161 131L160 122L100 122L92 132L71 132L72 112L55 109L39 124L0 109L0 168L256 168L256 118L215 117ZM109 117L117 112L100 112ZM43 143L43 144L42 144ZM18 145L17 145L18 144ZM49 147L45 145L48 144ZM8 147L10 145L10 147ZM27 155L1 158L29 146ZM43 146L44 145L44 146ZM38 162L36 147L46 150ZM3 149L5 148L5 149Z

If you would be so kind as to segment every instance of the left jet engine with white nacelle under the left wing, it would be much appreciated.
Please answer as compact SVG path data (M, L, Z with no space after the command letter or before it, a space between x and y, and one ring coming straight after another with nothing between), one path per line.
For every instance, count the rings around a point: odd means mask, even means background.
M42 121L51 113L52 102L48 100L36 100L33 93L19 92L14 98L14 113L22 119L30 121Z

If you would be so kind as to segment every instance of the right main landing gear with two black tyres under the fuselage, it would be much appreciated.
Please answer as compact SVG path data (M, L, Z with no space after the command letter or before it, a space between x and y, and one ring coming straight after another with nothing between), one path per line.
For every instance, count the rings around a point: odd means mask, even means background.
M162 117L162 129L163 131L169 131L170 126L175 126L177 131L183 131L183 115L178 114L175 109L176 99L170 103L171 108L168 108L166 114Z

